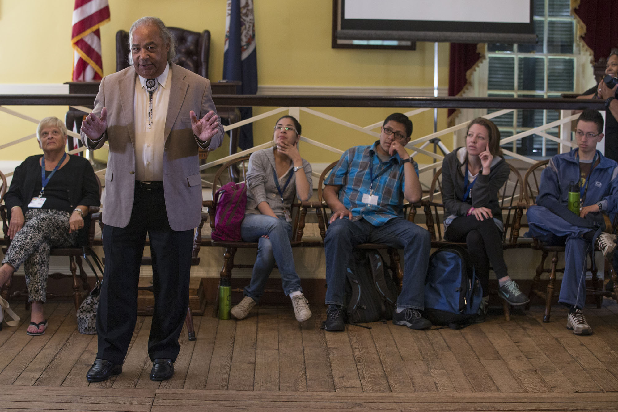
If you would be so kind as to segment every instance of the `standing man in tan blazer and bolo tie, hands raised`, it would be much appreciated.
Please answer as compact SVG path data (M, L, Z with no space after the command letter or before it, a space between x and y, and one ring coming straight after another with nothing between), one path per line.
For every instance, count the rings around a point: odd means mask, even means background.
M221 145L223 128L210 82L172 63L174 38L143 17L129 32L132 67L101 80L82 141L107 141L103 201L106 257L96 323L98 353L89 382L122 372L137 320L137 286L146 233L153 259L155 313L148 354L152 380L174 374L188 307L193 229L201 219L198 146Z

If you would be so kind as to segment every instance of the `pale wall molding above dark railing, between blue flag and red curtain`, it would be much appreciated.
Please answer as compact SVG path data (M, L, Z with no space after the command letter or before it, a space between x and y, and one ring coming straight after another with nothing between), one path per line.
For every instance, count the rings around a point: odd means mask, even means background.
M278 86L260 85L258 95L310 96L433 96L433 87L360 87L360 86ZM447 96L448 88L438 88L438 96Z

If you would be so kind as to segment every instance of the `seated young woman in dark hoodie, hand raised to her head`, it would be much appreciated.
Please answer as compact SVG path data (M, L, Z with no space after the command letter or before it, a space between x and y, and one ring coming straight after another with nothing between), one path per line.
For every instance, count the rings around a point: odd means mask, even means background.
M499 295L510 305L528 303L528 298L510 279L502 256L502 211L498 191L509 179L509 165L502 157L496 125L477 117L468 124L466 145L444 156L442 201L449 216L444 219L444 237L466 242L476 275L483 287L477 322L485 320L489 303L489 266L499 283Z

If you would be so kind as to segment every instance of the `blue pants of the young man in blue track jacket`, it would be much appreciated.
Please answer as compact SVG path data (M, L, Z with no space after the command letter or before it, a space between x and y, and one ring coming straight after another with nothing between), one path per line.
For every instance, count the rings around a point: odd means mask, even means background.
M526 212L530 234L550 245L564 245L564 275L559 303L583 308L586 301L586 260L593 244L582 238L591 230L570 224L543 206Z

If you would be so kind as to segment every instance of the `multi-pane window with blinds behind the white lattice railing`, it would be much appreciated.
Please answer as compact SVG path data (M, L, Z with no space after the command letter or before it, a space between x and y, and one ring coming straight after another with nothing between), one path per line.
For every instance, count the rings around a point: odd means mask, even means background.
M574 93L575 20L570 15L570 0L533 0L533 14L538 44L487 45L488 96L558 98ZM493 120L504 138L557 119L558 111L517 110ZM557 137L558 128L546 132ZM556 142L538 135L502 147L539 158L558 151Z

